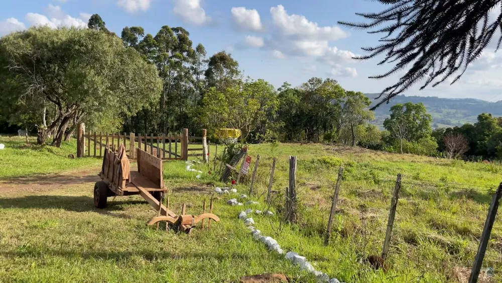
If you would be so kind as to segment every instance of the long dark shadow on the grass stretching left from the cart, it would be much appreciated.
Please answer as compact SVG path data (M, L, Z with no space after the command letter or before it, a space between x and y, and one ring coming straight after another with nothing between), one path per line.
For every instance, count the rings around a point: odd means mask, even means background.
M20 198L0 199L0 209L19 208L19 209L64 209L73 212L93 211L104 215L117 216L109 214L111 211L123 211L126 206L147 204L142 201L113 201L108 198L108 206L105 209L94 207L94 200L91 197L75 196L26 196ZM131 218L126 215L122 218Z

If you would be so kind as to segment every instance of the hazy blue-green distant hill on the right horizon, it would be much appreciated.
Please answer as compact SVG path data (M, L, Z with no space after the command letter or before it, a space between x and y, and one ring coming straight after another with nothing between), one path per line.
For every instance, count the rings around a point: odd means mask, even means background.
M365 94L372 104L376 104L380 100L374 100L379 96L379 93ZM408 97L397 96L391 100L389 104L380 106L375 111L375 120L372 124L383 127L384 120L389 117L392 106L399 103L424 103L427 112L434 119L433 128L438 127L453 127L461 126L465 123L475 123L477 116L483 112L491 113L493 116L502 116L502 101L488 102L478 99L448 99L438 97Z

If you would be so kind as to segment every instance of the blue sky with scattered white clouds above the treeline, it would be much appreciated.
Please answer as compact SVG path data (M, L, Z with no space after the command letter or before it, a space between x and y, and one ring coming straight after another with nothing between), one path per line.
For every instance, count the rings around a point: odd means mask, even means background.
M395 83L399 74L368 78L393 65L352 57L365 54L360 48L378 44L380 36L337 21L360 22L355 13L384 8L370 0L2 0L0 36L41 25L85 28L92 14L99 14L118 35L126 26L141 26L154 36L164 25L181 26L194 46L205 46L208 56L225 50L244 75L276 87L285 81L297 86L317 76L369 93ZM416 85L405 95L502 100L502 55L494 51L491 44L453 85L424 90Z

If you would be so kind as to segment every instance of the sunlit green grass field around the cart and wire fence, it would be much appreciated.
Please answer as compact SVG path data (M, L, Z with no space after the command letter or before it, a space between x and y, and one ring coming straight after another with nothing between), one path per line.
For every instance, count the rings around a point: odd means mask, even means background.
M7 142L0 138L0 143L16 146L0 151L0 163L12 164L0 168L0 178L11 186L25 174L99 170L97 158L64 158L74 151L73 144L53 152L52 147L24 146L18 138ZM472 265L494 192L491 188L502 181L499 165L361 148L261 144L251 145L249 154L254 160L257 154L262 156L257 195L266 190L272 159L278 158L271 207L276 216L254 216L257 229L274 237L285 251L306 256L317 270L346 282L455 282L457 268ZM37 158L32 164L29 160L34 155ZM289 155L298 157L299 223L281 226ZM16 164L23 166L16 169ZM345 171L339 210L330 245L325 247L323 234L340 165ZM202 201L209 200L214 186L222 184L214 172L207 173L213 171L212 163L210 167L195 165L203 171L200 179L185 167L181 161L165 163L171 207L179 213L181 204L187 203L188 213L199 214ZM403 186L388 255L390 267L386 272L374 270L364 259L381 253L398 173L403 174ZM213 223L211 230L178 235L147 227L156 213L137 196L110 198L107 209L95 209L94 181L95 176L89 176L41 187L34 181L35 188L25 184L18 191L2 191L0 184L0 281L234 282L240 276L263 272L315 281L250 235L237 219L248 207L226 205L237 196L214 196L214 212L222 222ZM238 195L247 194L248 179L237 188ZM254 200L260 205L252 208L267 209L264 197ZM491 281L502 281L500 220L483 263L487 267L495 270Z

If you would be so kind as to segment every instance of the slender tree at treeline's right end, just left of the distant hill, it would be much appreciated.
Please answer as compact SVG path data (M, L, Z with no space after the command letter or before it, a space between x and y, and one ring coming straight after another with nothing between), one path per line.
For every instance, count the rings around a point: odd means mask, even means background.
M346 109L347 123L350 126L352 146L356 144L356 127L374 119L374 113L367 110L369 105L371 105L371 101L364 96L364 93L347 91L347 100L345 101L344 108Z

